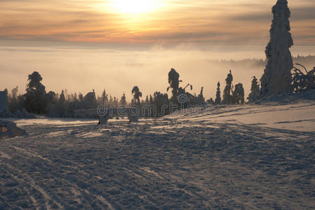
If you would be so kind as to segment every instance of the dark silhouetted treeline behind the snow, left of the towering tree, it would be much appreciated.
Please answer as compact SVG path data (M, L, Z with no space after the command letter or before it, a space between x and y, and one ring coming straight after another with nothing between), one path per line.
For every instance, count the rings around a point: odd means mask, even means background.
M28 76L28 83L25 94L18 93L18 87L15 87L11 92L4 90L8 99L8 111L0 113L2 117L14 118L32 118L35 114L44 114L49 117L56 118L74 118L75 111L79 109L97 109L102 106L105 108L120 108L137 106L140 110L147 107L146 112L140 112L142 117L159 117L168 115L177 109L187 108L189 106L204 106L208 104L243 104L244 90L243 85L232 85L232 72L227 76L227 85L223 92L221 100L220 83L218 83L217 98L215 101L211 98L206 100L203 97L203 87L200 93L192 94L189 91L193 90L193 86L187 84L181 85L180 74L171 69L168 73L169 87L171 97L167 92L154 92L142 97L142 92L138 86L133 87L130 94L133 95L131 102L126 101L126 94L123 93L120 98L112 97L107 94L106 90L101 96L97 96L95 91L88 92L83 95L81 93L69 93L67 90L62 90L60 94L57 92L46 92L46 87L41 83L43 78L39 72L34 71Z

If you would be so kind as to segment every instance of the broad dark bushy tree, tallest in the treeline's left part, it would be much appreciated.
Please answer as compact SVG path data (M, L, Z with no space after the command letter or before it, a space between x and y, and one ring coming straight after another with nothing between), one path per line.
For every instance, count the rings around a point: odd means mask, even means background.
M45 86L41 84L43 78L41 75L34 71L32 74L29 74L25 94L25 108L30 113L44 113L46 110L46 90Z

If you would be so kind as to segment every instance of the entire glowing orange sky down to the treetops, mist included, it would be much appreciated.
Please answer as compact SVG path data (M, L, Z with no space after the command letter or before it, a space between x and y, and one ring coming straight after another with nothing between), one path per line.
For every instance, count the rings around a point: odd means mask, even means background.
M215 97L232 69L246 94L263 66L213 66L210 59L264 58L276 0L0 0L0 90L39 71L46 90L106 90L130 97L166 92L170 68ZM156 1L143 10L136 2ZM115 3L116 2L116 3ZM118 3L118 4L117 4ZM289 1L293 55L315 54L315 0ZM140 13L130 13L141 11ZM308 66L308 68L311 66Z

